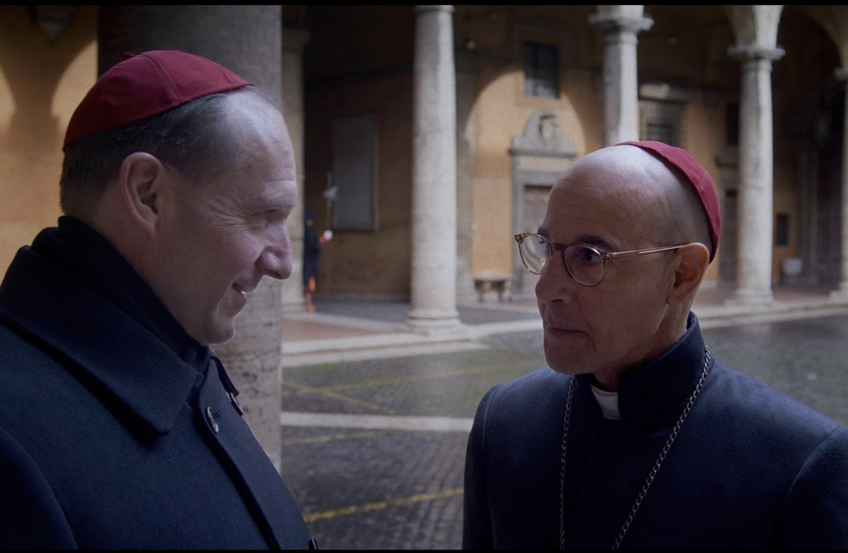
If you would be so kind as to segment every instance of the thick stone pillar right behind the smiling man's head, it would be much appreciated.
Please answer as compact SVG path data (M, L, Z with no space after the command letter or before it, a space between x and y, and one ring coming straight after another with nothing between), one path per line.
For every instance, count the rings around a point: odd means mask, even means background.
M99 68L103 73L123 52L184 50L235 71L279 103L281 29L279 5L101 5ZM262 279L237 318L236 337L215 347L241 392L245 421L278 468L281 312L280 282Z

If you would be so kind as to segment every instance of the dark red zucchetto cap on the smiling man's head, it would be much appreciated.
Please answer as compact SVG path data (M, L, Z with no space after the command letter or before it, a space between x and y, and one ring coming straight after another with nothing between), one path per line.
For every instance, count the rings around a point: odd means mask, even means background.
M62 149L80 138L249 84L226 67L192 53L140 53L115 64L94 83L70 118Z

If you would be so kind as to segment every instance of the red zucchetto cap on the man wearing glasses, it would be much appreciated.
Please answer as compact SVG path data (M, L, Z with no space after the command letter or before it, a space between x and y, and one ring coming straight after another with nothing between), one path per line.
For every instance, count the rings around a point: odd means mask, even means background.
M710 237L712 238L712 254L710 261L716 257L718 250L718 237L722 234L722 209L718 203L718 191L712 177L706 170L695 161L689 152L682 148L675 148L663 142L644 140L641 142L620 142L616 146L636 146L642 148L661 161L676 167L686 177L693 187L695 195L698 196L701 206L706 212L707 221L710 223Z

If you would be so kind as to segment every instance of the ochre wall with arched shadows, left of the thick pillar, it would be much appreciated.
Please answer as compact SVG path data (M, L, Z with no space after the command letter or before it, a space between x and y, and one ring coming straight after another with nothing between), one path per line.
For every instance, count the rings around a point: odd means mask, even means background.
M0 273L59 216L61 137L81 96L67 98L60 111L56 97L69 93L81 52L95 40L96 14L94 6L79 6L64 27L45 30L35 8L0 6ZM93 76L77 85L81 93Z

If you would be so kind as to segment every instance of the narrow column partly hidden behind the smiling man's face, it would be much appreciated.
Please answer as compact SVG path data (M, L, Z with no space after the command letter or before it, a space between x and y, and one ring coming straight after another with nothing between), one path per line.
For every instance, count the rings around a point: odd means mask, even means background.
M282 30L282 113L292 137L298 178L298 204L288 215L293 271L292 277L282 283L283 312L304 310L304 47L309 40L310 33L303 29Z

